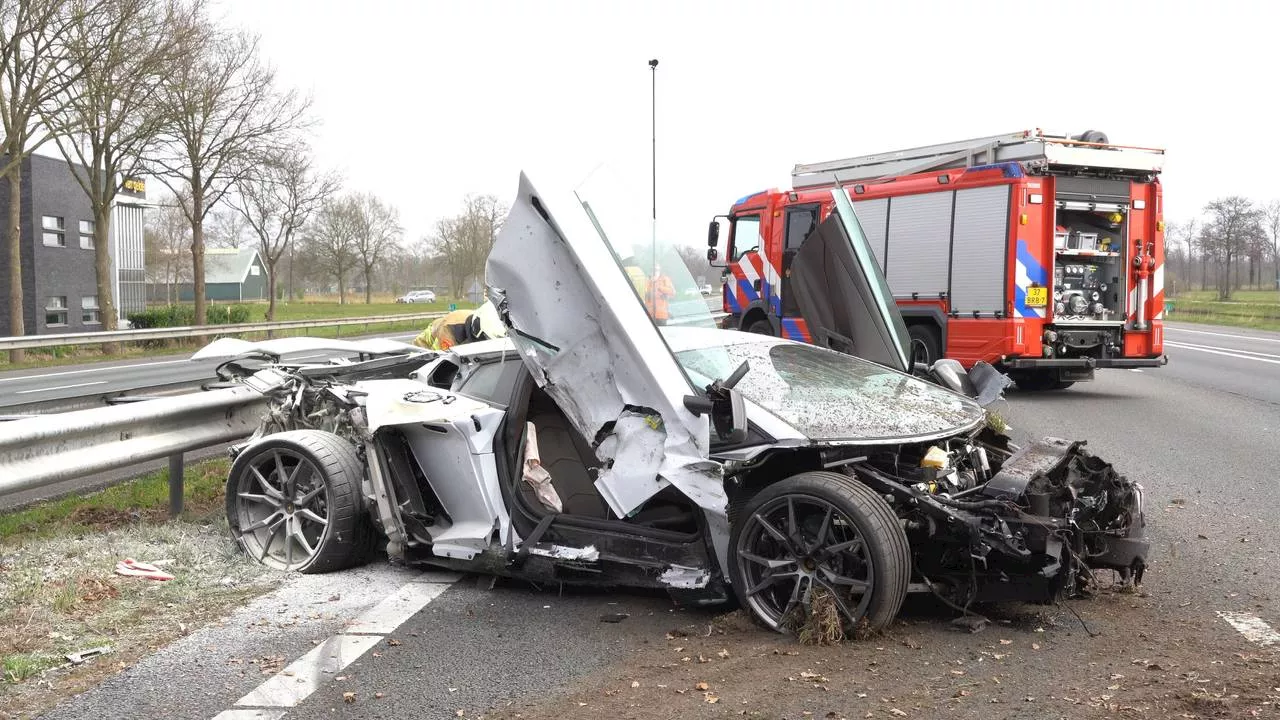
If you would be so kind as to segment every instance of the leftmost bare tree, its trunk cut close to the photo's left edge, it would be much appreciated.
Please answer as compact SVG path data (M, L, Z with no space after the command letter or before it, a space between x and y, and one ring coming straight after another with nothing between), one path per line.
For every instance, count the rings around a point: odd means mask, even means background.
M0 177L9 181L9 332L27 334L22 287L22 163L68 128L37 122L59 115L78 68L67 59L74 12L64 0L0 0ZM12 350L20 363L26 351Z

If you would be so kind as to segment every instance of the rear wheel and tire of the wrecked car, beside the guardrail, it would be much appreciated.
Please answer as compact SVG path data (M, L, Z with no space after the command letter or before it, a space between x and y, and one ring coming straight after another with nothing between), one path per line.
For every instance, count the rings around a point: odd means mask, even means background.
M356 450L335 434L266 436L232 464L227 523L247 555L278 570L332 573L358 565L378 539L360 506L364 475Z

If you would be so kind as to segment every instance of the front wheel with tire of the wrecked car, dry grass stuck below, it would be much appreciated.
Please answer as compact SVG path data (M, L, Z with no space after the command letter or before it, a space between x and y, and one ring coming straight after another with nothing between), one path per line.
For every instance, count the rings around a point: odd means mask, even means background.
M827 515L824 507L831 520L819 519ZM792 516L804 547L781 542L762 523L781 529L777 523ZM787 632L796 585L801 597L805 585L832 593L847 587L837 605L844 623L855 629L882 630L897 616L911 575L910 546L893 509L869 487L838 473L800 473L760 491L736 520L728 575L739 603L760 625ZM782 534L791 537L786 529ZM806 580L797 577L801 573L808 573ZM854 582L865 587L859 597Z

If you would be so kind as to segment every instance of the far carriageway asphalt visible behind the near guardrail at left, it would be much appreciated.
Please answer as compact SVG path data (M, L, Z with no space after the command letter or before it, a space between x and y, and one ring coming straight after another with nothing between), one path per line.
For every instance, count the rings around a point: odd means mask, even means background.
M374 336L410 341L413 334ZM358 340L358 338L347 338ZM287 360L324 360L330 352L296 352ZM215 363L196 363L191 354L143 360L92 363L0 373L0 413L28 402L68 400L86 395L142 391L174 383L215 380Z

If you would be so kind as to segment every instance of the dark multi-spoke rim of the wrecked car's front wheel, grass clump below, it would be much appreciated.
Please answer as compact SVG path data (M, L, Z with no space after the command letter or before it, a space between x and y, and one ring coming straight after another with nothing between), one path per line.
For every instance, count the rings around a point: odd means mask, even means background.
M785 495L744 521L737 541L737 569L750 609L771 628L803 610L808 616L815 589L833 598L845 623L867 614L874 589L874 566L852 520L833 503L808 495Z

